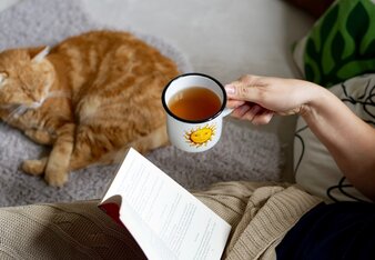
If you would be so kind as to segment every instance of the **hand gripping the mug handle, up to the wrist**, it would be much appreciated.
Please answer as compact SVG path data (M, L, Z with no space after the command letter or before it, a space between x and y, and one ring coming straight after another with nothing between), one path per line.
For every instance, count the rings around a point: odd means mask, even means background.
M244 76L226 84L227 108L232 116L250 120L254 124L268 123L273 114L303 113L315 96L314 83L259 76Z

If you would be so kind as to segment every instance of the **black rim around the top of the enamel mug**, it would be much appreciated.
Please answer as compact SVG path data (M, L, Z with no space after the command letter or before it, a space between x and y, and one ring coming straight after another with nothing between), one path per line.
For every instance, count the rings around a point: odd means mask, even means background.
M172 84L173 81L175 81L175 80L178 80L178 79L180 79L180 78L183 78L183 77L189 77L189 76L200 76L200 77L207 78L207 79L214 81L214 82L219 86L219 88L222 90L222 92L223 92L223 103L222 103L220 110L219 110L215 114L213 114L213 116L211 116L211 117L209 117L209 118L205 118L205 119L201 119L201 120L188 120L188 119L183 119L183 118L180 118L180 117L175 116L175 114L170 110L170 108L168 107L168 103L165 102L166 90L169 89L169 87L171 87L171 84ZM172 79L172 80L165 86L165 88L164 88L164 90L163 90L163 93L162 93L162 103L163 103L163 107L164 107L165 111L166 111L172 118L174 118L174 119L176 119L176 120L179 120L179 121L186 122L186 123L203 123L203 122L207 122L207 121L211 121L211 120L217 118L217 117L221 114L221 112L225 109L225 107L226 107L226 92L225 92L224 86L223 86L219 80L216 80L215 78L213 78L213 77L211 77L211 76L209 76L209 74L199 73L199 72L183 73L183 74L180 74L180 76L175 77L174 79Z

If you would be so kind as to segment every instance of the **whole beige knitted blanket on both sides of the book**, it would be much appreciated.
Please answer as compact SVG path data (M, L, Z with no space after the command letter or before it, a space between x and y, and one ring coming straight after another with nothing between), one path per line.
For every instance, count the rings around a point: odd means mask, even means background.
M232 226L223 259L275 259L275 246L321 202L294 186L222 182L194 192ZM98 201L0 209L0 259L144 259Z

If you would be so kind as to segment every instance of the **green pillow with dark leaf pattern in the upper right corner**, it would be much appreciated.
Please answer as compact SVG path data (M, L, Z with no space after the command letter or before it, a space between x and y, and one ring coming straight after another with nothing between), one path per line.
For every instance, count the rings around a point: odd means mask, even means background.
M304 78L323 87L375 72L375 0L338 0L293 48Z

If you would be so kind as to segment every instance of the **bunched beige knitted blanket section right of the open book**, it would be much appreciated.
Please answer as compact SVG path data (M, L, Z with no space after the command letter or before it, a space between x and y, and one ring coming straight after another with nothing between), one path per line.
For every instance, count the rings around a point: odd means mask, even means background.
M285 233L322 202L294 186L261 182L219 183L195 196L232 226L224 258L233 260L270 259Z

